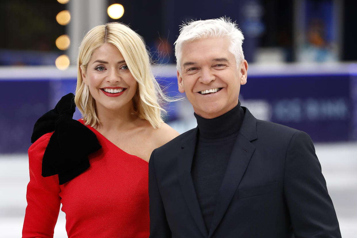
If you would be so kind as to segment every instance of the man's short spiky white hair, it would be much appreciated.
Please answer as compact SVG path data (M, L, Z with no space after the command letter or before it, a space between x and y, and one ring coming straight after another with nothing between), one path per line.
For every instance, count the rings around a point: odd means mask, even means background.
M228 37L231 41L229 51L235 56L237 66L244 59L242 44L244 36L236 22L229 17L191 21L180 27L180 35L175 41L176 68L181 72L182 45L206 37Z

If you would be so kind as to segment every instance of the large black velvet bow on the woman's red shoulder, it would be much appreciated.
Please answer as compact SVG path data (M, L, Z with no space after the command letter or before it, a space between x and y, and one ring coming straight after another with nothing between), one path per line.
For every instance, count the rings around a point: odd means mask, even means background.
M74 94L63 96L54 109L36 121L31 136L31 143L34 143L42 135L54 131L42 159L42 176L58 174L59 184L89 168L88 155L102 147L94 132L72 119L75 110Z

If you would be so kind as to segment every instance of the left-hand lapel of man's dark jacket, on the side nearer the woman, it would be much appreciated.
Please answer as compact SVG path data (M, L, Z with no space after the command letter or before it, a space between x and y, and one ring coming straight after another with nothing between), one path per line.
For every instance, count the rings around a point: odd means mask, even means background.
M178 178L182 190L183 197L185 198L188 209L190 210L193 219L195 220L202 235L207 237L207 228L203 221L200 205L196 195L195 186L193 185L191 176L192 159L195 153L197 141L198 128L192 130L188 136L188 140L181 146L181 152L178 155Z

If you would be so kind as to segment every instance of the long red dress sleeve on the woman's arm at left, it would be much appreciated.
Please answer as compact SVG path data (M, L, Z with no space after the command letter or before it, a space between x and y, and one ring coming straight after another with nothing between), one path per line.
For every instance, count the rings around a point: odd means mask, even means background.
M52 133L46 133L29 148L30 182L22 237L53 237L61 198L58 176L42 177L42 157Z

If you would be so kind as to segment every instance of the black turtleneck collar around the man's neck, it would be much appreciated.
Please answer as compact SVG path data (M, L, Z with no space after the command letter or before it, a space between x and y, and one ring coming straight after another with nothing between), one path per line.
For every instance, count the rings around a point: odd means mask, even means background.
M238 132L242 125L244 111L241 108L241 102L238 101L237 106L232 110L212 119L203 118L196 113L194 115L197 120L200 137L213 139L230 136Z

